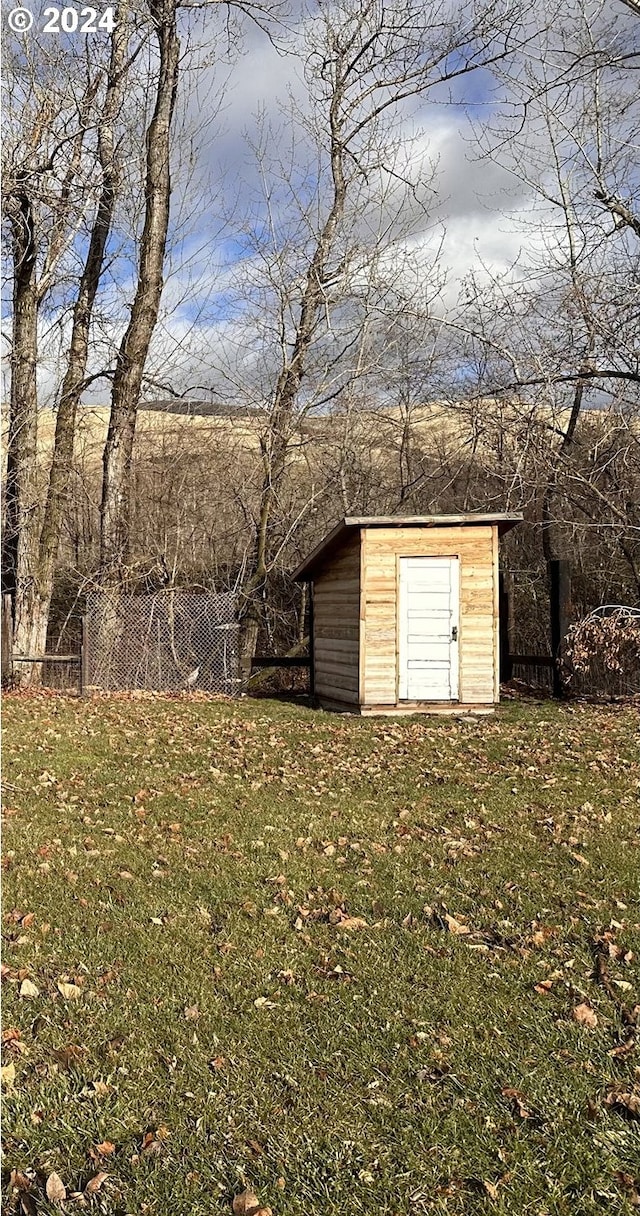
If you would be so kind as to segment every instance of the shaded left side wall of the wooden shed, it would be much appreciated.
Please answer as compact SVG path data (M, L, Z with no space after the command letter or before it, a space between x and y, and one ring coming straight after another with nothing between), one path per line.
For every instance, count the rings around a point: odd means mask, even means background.
M358 704L360 536L350 537L314 579L314 675L318 697Z

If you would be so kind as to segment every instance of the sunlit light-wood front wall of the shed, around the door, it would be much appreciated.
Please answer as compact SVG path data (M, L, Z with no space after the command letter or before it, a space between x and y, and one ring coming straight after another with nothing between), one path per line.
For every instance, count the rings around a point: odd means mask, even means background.
M490 524L363 533L364 705L397 703L398 557L460 559L460 703L485 705L498 699L496 541L498 530Z

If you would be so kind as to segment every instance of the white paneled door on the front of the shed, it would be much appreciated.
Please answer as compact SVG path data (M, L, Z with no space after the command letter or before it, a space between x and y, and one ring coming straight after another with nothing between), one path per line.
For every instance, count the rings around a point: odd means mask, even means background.
M400 557L400 700L457 700L460 572L456 557Z

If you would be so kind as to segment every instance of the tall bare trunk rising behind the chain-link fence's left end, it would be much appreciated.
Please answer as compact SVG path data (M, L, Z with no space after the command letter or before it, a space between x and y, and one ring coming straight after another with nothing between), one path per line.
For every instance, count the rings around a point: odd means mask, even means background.
M158 320L170 203L170 128L180 44L175 0L151 4L158 40L156 105L146 135L145 223L137 285L118 351L107 441L102 456L100 573L103 585L123 581L130 547L131 455L142 373Z

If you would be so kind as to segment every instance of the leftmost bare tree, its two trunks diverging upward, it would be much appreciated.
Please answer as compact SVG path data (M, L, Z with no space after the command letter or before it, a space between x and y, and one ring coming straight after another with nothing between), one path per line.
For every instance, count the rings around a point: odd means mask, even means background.
M127 47L123 21L111 38L111 52L107 44L106 56L99 47L88 57L79 81L73 54L50 58L34 44L12 62L5 142L13 308L4 578L13 598L13 647L23 654L43 653L46 642L75 415L116 201L114 124ZM89 237L77 277L74 242L85 219ZM38 463L39 338L47 309L60 313L64 306L72 309L69 347L45 490ZM19 672L23 682L38 681L39 674L39 666Z

